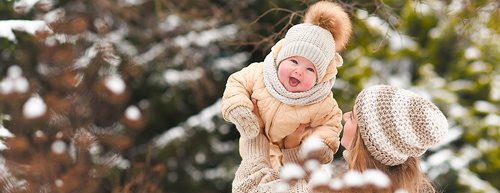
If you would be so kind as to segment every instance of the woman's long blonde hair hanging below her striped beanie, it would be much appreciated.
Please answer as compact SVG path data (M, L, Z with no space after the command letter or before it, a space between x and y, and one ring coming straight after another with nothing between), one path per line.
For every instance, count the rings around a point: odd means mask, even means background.
M386 173L391 180L391 185L385 189L364 188L361 190L352 190L357 193L368 192L394 192L397 189L404 189L408 193L435 193L436 189L432 183L420 171L420 161L418 158L409 157L404 163L396 166L384 165L366 149L361 134L356 130L356 135L351 143L349 155L346 158L350 169L357 171L365 171L367 169L378 169Z

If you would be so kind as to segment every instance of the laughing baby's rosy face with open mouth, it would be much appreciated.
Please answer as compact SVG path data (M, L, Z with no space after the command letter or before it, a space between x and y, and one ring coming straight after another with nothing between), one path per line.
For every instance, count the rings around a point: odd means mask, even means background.
M290 92L304 92L316 84L316 67L308 59L292 56L279 63L278 79Z

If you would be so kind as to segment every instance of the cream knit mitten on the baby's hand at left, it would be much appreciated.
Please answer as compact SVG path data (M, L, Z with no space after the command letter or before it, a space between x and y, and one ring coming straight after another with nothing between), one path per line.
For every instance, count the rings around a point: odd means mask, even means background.
M247 107L236 107L229 112L229 121L236 125L241 137L255 138L259 134L259 121Z

